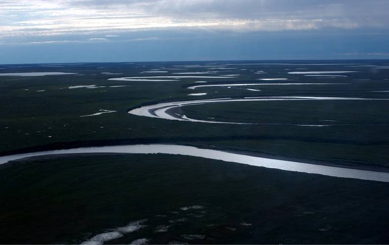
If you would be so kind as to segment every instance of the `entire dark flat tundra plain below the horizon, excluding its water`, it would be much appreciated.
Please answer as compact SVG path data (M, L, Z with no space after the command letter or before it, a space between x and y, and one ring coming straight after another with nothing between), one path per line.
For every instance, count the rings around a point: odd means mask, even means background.
M1 65L0 73L76 74L0 76L0 156L167 143L388 172L388 64ZM329 71L335 73L301 73ZM143 76L176 77L108 80ZM261 85L228 86L251 83ZM207 94L189 96L196 93ZM208 103L168 111L222 123L127 113L158 102L245 97L368 100ZM112 112L97 114L102 110ZM389 243L384 182L166 154L34 158L0 165L0 179L0 243Z

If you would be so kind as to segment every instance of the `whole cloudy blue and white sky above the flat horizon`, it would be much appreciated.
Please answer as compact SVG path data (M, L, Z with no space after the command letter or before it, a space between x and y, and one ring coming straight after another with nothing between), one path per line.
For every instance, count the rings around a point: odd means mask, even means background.
M0 63L389 59L389 0L0 0Z

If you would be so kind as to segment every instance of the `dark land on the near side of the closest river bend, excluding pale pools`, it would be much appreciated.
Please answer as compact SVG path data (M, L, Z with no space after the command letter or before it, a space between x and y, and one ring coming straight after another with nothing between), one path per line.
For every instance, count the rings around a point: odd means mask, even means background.
M0 170L2 243L386 243L389 184L169 155L69 156ZM5 223L3 223L5 224Z

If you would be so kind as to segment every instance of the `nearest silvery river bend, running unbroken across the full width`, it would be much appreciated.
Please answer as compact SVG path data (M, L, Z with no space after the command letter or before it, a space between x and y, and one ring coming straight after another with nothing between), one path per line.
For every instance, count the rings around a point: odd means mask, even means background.
M292 162L278 159L270 159L257 156L249 156L226 152L221 150L204 149L180 145L124 145L107 147L80 147L73 149L48 150L31 153L15 154L0 157L0 164L13 160L20 160L27 157L37 157L56 154L76 154L76 153L133 153L133 154L174 154L203 157L208 159L222 160L225 162L234 162L247 164L257 167L270 169L279 169L293 172L305 172L312 174L322 174L341 178L354 178L362 180L373 180L389 182L389 172L374 172L366 170L347 169L340 167L307 164L301 162Z

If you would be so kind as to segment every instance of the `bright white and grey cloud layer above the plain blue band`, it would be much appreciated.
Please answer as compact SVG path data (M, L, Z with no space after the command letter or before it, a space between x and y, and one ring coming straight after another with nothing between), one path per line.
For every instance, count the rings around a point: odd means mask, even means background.
M210 31L380 29L386 0L3 0L0 39L201 28ZM95 41L108 41L91 38ZM82 41L82 40L81 40Z

